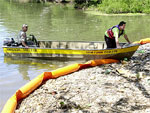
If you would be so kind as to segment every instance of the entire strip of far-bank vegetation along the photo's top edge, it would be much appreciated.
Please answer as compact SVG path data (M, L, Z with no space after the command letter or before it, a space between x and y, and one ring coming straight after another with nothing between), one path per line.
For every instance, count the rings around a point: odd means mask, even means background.
M77 9L96 9L107 14L150 13L150 0L7 0L36 3L74 3Z

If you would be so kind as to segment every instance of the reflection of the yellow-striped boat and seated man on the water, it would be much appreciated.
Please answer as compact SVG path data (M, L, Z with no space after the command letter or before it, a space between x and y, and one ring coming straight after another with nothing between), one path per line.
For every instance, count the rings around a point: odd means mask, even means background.
M8 66L16 64L17 70L20 73L20 75L22 75L22 78L28 81L31 80L29 71L52 71L76 62L83 63L84 61L56 61L4 56L4 63L6 63Z

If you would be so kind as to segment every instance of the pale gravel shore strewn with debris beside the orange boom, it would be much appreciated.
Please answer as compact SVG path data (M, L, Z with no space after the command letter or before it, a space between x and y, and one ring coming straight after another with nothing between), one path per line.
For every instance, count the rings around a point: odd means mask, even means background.
M43 83L15 113L150 113L150 44L129 61L83 69Z

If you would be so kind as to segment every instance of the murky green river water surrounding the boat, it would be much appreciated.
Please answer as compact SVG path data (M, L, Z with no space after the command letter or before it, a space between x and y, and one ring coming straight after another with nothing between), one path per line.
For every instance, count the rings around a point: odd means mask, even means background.
M75 10L72 5L0 0L0 111L17 89L41 73L83 62L5 57L3 39L15 38L22 24L28 24L27 34L38 40L103 41L104 32L122 20L127 22L126 33L132 42L150 36L150 15L98 16Z

